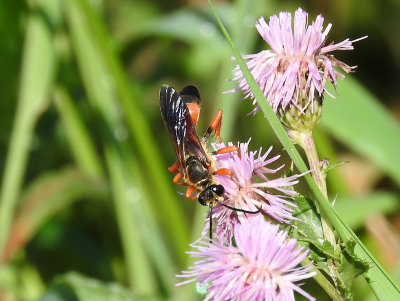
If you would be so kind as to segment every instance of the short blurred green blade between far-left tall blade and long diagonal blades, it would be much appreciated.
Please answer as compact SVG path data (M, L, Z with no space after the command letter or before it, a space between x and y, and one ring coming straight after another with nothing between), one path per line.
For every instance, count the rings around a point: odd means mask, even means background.
M57 87L54 91L54 98L63 129L69 141L69 147L78 166L88 175L102 176L101 160L71 97L67 91Z

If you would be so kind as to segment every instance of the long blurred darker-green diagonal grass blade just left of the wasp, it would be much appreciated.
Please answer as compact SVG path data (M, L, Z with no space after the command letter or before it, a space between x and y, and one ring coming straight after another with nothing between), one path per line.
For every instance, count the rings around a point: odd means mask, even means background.
M101 59L113 77L112 84L115 85L115 93L118 95L125 122L139 152L139 159L150 175L149 182L153 187L157 187L153 190L154 199L157 200L157 203L153 204L154 213L163 222L177 250L177 256L183 263L186 258L184 251L189 242L188 223L179 203L180 199L171 188L165 172L167 165L161 160L160 146L151 133L146 117L139 109L137 104L139 100L131 91L128 79L110 45L104 24L86 0L80 2L80 8L98 45ZM154 97L157 100L158 91L155 91Z

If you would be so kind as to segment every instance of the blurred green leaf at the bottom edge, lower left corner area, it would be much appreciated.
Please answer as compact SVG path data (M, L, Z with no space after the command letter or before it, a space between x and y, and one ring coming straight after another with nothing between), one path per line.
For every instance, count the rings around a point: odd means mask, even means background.
M97 279L84 277L75 272L69 272L63 276L57 277L49 291L40 298L40 301L91 300L134 301L139 299L135 298L128 289L117 283L104 283Z

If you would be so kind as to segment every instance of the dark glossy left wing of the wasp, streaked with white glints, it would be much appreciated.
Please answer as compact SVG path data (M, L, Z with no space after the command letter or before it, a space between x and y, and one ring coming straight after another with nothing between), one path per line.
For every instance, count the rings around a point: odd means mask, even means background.
M174 145L175 153L181 167L185 168L186 155L195 156L201 162L208 165L209 160L197 135L192 117L186 105L187 101L188 99L180 97L174 88L166 85L161 87L161 116Z

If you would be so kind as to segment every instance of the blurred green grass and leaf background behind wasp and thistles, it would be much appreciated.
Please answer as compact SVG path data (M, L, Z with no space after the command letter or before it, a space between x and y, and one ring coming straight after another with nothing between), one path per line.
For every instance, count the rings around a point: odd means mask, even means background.
M369 36L335 54L357 73L327 97L315 138L321 158L346 162L328 176L335 207L399 282L400 1L215 2L243 54L266 48L261 15L299 5L333 24L328 42ZM6 0L0 36L0 300L201 299L174 287L206 208L167 171L161 84L200 89L200 132L222 108L225 142L274 145L290 166L251 102L222 94L234 63L206 1ZM372 298L362 279L354 292Z

